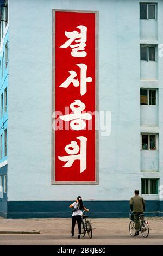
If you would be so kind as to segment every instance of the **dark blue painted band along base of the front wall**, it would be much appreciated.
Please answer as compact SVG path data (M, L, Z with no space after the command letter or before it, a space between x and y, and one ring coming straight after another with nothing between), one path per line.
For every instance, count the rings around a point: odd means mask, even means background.
M72 211L69 201L20 201L8 202L7 218L68 218L71 217ZM90 209L91 218L128 218L130 212L129 201L85 201L84 205ZM163 204L161 205L161 209ZM146 202L146 216L163 216L158 213L160 202Z

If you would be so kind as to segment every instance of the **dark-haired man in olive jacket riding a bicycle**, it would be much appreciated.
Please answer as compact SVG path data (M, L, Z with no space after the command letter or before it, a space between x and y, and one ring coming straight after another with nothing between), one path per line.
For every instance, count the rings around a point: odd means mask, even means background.
M139 235L139 230L140 230L139 215L143 214L143 212L145 211L146 203L145 203L145 200L139 196L139 190L135 190L134 193L135 193L135 196L131 197L130 199L130 209L131 211L133 211L133 214L134 214L135 229L136 229L135 235Z

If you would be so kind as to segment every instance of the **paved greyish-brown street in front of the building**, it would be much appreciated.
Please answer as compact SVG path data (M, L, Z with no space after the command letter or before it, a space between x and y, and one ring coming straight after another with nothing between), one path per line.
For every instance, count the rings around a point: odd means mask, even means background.
M71 218L0 220L1 231L40 230L40 234L0 234L0 245L163 245L163 219L149 218L149 237L129 235L127 218L92 219L93 237L71 238Z

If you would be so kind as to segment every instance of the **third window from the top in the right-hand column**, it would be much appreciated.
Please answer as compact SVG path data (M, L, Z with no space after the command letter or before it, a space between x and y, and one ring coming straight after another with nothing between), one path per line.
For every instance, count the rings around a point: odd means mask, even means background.
M156 89L140 89L141 105L156 105Z

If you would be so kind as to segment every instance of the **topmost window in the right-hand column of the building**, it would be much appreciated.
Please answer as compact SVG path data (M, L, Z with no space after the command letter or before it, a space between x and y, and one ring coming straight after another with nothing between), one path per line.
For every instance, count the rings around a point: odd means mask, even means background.
M140 4L140 19L156 20L156 4Z

